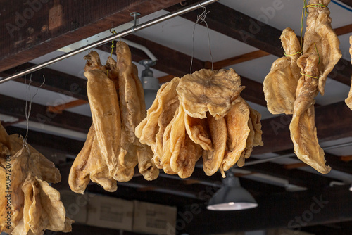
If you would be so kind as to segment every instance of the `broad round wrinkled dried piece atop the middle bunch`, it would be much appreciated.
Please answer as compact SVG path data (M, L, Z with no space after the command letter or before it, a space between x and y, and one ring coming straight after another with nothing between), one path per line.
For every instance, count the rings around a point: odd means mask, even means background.
M189 116L206 118L209 112L213 117L221 118L243 89L241 78L232 68L219 71L202 69L184 75L177 87L177 94Z

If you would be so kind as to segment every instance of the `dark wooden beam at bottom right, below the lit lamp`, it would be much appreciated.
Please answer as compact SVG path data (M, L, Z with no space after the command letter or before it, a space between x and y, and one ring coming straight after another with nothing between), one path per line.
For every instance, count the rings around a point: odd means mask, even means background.
M202 208L192 220L180 222L177 229L180 234L225 234L279 227L298 231L315 224L352 220L352 192L348 186L277 193L256 200L258 207L250 210L216 212Z

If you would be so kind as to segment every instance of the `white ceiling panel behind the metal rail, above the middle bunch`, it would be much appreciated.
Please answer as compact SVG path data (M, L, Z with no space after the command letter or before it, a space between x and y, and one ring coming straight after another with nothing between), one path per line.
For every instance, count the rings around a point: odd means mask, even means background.
M151 20L165 13L168 13L168 11L158 11L141 18L139 22L143 23L146 20ZM146 30L141 30L136 35L191 56L193 30L194 22L176 17L158 25L148 27ZM253 46L239 42L214 30L209 30L209 35L214 62L257 50ZM196 25L194 32L194 57L202 61L211 61L208 46L208 31L202 25Z

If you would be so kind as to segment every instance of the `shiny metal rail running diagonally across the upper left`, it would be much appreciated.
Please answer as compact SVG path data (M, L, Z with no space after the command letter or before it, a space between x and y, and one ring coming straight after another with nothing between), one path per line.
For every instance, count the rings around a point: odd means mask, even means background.
M98 42L94 42L92 44L88 44L87 46L84 46L84 47L82 47L80 49L76 49L76 50L70 51L68 53L65 53L62 56L58 56L58 57L53 58L53 59L51 59L49 61L46 61L44 63L39 63L38 65L34 65L31 68L27 68L26 70L23 70L23 71L20 71L20 72L16 72L15 74L10 75L8 77L4 77L2 80L0 80L0 84L4 83L4 82L8 82L10 80L14 80L14 79L16 79L18 77L22 77L22 76L26 75L27 73L35 72L37 70L40 70L42 68L45 68L46 66L49 66L49 65L53 64L53 63L56 63L58 61L62 61L65 58L69 58L70 56L75 56L77 53L81 53L81 52L86 51L88 49L92 49L92 48L94 48L96 46L101 46L102 44L106 44L108 42L111 42L112 40L118 39L119 37L127 36L128 34L132 34L132 32L137 32L139 30L143 30L146 27L150 27L152 25L156 25L156 24L161 23L161 22L163 22L165 20L169 20L171 18L174 18L176 16L182 15L182 14L187 13L189 11L194 11L197 8L201 7L201 6L206 6L208 4L212 4L215 1L218 1L218 0L206 0L206 1L203 1L203 2L198 3L198 4L193 4L193 5L188 6L186 8L182 8L179 11L168 13L166 15L162 15L162 16L160 16L158 18L153 19L153 20L149 20L146 23L142 23L142 24L137 25L135 27L132 27L132 28L130 28L128 30L123 30L122 32L119 32L117 34L113 34L110 37L106 37L105 39L101 39Z

